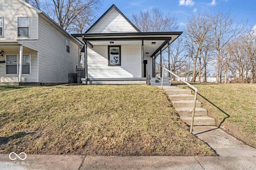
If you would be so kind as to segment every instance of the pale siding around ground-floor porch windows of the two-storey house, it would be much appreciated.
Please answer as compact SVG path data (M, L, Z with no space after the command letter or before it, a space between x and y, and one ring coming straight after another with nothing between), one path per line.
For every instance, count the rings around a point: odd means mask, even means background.
M4 50L5 55L17 55L19 54L19 50ZM5 55L4 57L0 57L0 61L5 61ZM22 82L38 82L37 81L37 52L33 50L23 50L23 55L30 55L30 75L24 74L22 75ZM19 75L8 75L5 74L5 63L0 63L0 83L6 83L6 82L18 82ZM16 76L16 79L13 77Z

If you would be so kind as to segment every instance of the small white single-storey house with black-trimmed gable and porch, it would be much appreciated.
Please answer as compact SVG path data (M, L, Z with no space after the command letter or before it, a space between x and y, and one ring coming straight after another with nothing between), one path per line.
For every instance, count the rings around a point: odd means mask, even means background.
M155 77L155 57L182 32L141 32L113 4L83 34L85 84L143 84ZM148 71L147 71L148 70ZM161 74L162 75L162 74Z

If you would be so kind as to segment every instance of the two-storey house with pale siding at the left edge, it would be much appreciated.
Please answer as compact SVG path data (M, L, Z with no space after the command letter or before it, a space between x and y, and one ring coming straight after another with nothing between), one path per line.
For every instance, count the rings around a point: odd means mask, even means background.
M26 2L0 2L0 84L67 83L81 43Z

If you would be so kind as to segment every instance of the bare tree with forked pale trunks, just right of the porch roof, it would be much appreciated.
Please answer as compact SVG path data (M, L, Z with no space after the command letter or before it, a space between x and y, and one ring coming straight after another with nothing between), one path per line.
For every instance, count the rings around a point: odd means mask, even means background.
M201 75L201 57L204 50L205 41L209 37L209 32L211 29L211 22L209 20L210 15L207 13L192 15L188 18L188 23L186 24L185 31L185 44L187 50L187 56L189 56L193 61L193 76L192 82L196 80L196 63L199 59L199 75Z

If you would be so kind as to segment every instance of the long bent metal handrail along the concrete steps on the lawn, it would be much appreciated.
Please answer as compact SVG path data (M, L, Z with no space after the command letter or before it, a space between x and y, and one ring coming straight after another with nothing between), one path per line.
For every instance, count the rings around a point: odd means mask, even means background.
M161 85L161 89L163 89L163 82L164 82L164 70L170 72L170 74L174 75L175 77L177 77L178 79L180 79L182 82L184 82L185 84L187 84L190 88L192 88L195 91L195 98L194 98L194 107L193 107L193 111L192 111L192 119L191 119L191 125L190 125L190 133L192 133L193 130L193 124L194 124L194 117L195 117L195 111L196 111L196 99L197 99L197 93L198 93L198 89L195 88L194 86L192 86L191 84L189 84L188 82L186 82L185 80L183 80L182 78L180 78L179 76L177 76L176 74L174 74L173 72L171 72L170 70L168 70L167 68L163 68L163 75L162 75L162 85Z

